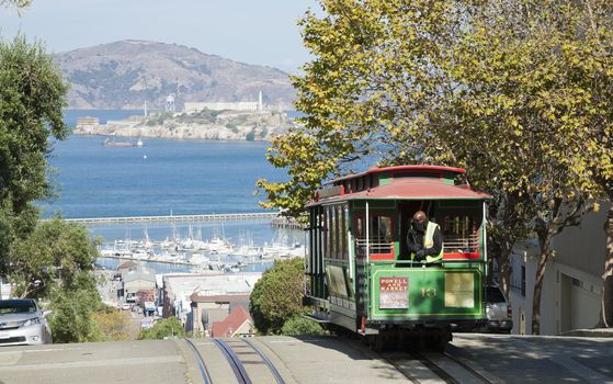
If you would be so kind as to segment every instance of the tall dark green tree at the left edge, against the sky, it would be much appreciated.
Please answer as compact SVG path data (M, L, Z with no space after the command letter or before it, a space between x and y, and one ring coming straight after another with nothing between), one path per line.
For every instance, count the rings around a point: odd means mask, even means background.
M50 139L69 133L61 113L67 90L41 43L22 35L0 41L0 274L11 266L12 242L36 224L32 202L53 195L46 159Z

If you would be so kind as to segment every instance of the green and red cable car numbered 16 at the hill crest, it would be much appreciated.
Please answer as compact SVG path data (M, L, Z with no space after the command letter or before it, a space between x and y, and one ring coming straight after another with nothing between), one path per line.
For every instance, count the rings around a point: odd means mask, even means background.
M338 332L363 335L375 349L416 339L444 348L451 325L481 325L490 196L459 184L464 173L376 168L317 191L308 204L311 316ZM440 261L409 258L406 237L417 211L440 226Z

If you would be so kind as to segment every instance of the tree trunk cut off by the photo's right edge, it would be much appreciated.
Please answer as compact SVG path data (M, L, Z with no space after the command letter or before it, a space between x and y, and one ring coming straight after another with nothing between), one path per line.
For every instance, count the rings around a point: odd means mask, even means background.
M606 231L606 257L602 274L602 298L599 327L613 328L613 192L609 194L611 203L604 223Z

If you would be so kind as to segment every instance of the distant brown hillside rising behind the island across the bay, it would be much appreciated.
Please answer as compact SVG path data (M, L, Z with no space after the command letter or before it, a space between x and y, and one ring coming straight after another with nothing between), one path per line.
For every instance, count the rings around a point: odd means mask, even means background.
M123 41L58 54L72 87L73 109L162 109L174 94L189 101L257 101L288 106L295 97L287 74L232 61L175 44Z

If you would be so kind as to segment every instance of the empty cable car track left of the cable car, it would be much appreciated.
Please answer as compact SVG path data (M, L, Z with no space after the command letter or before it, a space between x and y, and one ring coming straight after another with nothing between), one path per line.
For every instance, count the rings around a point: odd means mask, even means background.
M205 384L213 384L215 375L211 374L205 360L203 359L201 350L189 339L185 339L191 350L193 351L196 362ZM283 376L274 366L274 363L266 357L266 354L251 340L247 339L209 339L208 345L217 347L218 351L224 355L227 364L231 369L237 383L251 384L251 383L271 383L276 381L279 384L285 384ZM247 347L247 350L245 349ZM252 359L258 357L258 359ZM258 365L265 365L268 371L258 371ZM272 377L271 377L272 375ZM265 380L264 377L265 376ZM222 377L218 382L226 383L227 377Z

